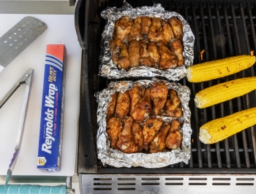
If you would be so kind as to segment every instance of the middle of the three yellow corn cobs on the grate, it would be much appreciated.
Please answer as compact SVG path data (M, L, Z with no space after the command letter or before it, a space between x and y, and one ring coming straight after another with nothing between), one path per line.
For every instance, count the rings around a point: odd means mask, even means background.
M201 90L195 95L195 106L203 109L238 96L243 96L256 89L256 77L245 77L224 82Z

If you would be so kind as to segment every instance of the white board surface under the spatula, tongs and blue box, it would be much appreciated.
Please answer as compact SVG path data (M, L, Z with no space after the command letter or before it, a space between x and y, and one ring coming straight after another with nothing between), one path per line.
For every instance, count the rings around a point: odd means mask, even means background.
M28 15L0 14L0 36ZM48 25L48 29L0 73L0 99L29 67L34 69L29 110L23 144L13 175L75 174L80 109L81 49L75 34L74 15L31 15ZM63 42L67 47L67 77L64 101L64 131L61 171L42 173L37 170L39 122L42 103L42 79L46 44ZM25 85L22 85L0 109L0 175L7 173L14 153L23 105Z

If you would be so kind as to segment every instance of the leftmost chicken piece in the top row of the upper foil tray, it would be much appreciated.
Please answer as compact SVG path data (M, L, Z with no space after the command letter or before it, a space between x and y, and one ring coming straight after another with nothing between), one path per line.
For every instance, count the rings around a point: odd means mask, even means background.
M125 36L127 36L127 34L129 34L129 32L131 31L132 24L132 19L128 16L123 16L116 21L115 31L113 35L113 42L116 47L121 47Z

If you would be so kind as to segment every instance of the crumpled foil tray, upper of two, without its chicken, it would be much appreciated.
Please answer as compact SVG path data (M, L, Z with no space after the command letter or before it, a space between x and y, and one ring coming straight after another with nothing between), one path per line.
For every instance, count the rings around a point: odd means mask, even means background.
M108 79L118 79L121 77L166 77L170 80L179 80L186 76L186 67L192 66L194 59L194 41L195 36L184 18L176 12L168 12L161 6L161 4L154 4L153 7L136 7L132 8L127 2L124 1L123 7L120 9L116 7L108 7L101 13L102 18L107 20L105 29L102 33L102 41L100 44L101 53L99 58L99 75L108 77ZM183 25L183 44L184 44L184 59L185 63L176 69L161 70L148 66L137 66L126 71L118 69L116 64L113 63L110 52L109 42L112 39L113 31L116 20L122 16L128 15L130 18L135 19L138 16L148 16L151 18L169 19L176 17L181 20Z

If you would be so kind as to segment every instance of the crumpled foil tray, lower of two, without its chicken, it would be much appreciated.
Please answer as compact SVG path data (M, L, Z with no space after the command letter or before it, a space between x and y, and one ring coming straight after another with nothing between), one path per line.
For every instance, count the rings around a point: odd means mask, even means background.
M181 148L172 150L170 152L157 152L157 153L133 153L126 154L120 150L113 150L110 148L110 140L108 133L106 133L106 112L108 104L111 101L113 93L121 92L124 93L126 90L133 88L135 84L148 88L153 85L154 82L165 82L168 90L174 89L178 94L178 98L181 99L181 108L183 115L179 118L181 121L181 135L182 142ZM97 97L98 109L97 109L97 122L99 129L97 131L97 154L99 160L102 163L106 163L110 166L115 167L132 167L132 166L143 166L146 168L160 168L168 166L173 163L184 163L189 162L191 155L191 134L192 129L190 126L191 112L189 109L189 95L190 90L187 86L177 84L175 82L167 82L162 79L152 78L151 80L139 80L137 82L132 81L119 81L110 82L108 88L95 94ZM170 116L157 116L161 117L164 121L171 121L176 117Z

